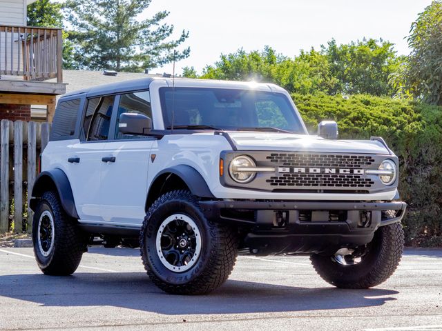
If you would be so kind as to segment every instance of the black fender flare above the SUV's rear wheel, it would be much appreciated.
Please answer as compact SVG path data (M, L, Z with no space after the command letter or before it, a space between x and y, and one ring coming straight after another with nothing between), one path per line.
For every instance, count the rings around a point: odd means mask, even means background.
M55 186L57 189L61 206L66 214L74 219L79 219L69 179L64 171L59 168L41 172L37 179L35 179L34 186L32 187L32 198L30 199L29 204L32 211L35 212L39 198L51 185Z

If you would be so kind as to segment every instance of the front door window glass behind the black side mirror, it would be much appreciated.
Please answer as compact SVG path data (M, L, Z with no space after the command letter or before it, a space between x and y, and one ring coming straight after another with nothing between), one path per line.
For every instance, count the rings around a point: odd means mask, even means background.
M132 112L135 114L144 114L152 119L151 96L149 91L133 92L122 94L119 99L117 123L115 126L115 139L134 139L142 136L134 136L131 134L122 134L119 132L119 115L124 112Z

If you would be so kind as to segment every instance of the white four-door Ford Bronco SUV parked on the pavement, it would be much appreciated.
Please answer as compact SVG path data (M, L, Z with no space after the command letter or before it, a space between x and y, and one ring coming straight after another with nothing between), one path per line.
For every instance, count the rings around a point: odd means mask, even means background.
M309 135L273 84L144 79L66 94L32 190L44 274L88 245L140 245L153 283L203 294L238 252L309 254L325 281L369 288L403 252L398 158L383 139Z

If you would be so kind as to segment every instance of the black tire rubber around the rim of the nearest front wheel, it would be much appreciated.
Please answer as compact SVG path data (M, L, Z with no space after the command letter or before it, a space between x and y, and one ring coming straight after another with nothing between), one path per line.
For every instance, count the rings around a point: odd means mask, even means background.
M162 221L175 213L193 219L201 233L200 257L185 272L166 268L155 249ZM171 294L206 294L229 277L238 255L238 236L226 225L206 219L191 192L176 190L162 195L149 208L140 233L140 253L148 276L158 288Z

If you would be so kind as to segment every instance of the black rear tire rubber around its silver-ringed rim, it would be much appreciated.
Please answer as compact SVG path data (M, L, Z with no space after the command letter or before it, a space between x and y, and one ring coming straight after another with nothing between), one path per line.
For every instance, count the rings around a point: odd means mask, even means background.
M42 254L39 248L38 225L43 212L52 214L54 221L54 242L47 257ZM32 222L32 241L34 243L34 254L40 270L44 274L54 276L67 276L77 270L83 252L86 250L87 238L78 228L76 220L68 217L57 192L44 192L35 210Z

